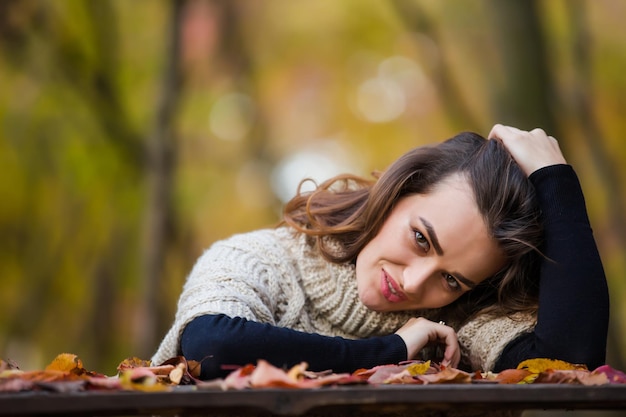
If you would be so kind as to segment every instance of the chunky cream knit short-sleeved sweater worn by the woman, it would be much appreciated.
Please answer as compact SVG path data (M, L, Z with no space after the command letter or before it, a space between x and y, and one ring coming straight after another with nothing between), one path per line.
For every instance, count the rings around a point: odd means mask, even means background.
M351 339L394 333L410 317L439 320L433 311L369 310L359 300L354 266L329 263L288 227L235 235L206 250L187 278L174 323L152 362L179 354L180 335L195 317L221 313ZM464 360L487 371L509 341L533 326L531 317L482 316L456 330Z

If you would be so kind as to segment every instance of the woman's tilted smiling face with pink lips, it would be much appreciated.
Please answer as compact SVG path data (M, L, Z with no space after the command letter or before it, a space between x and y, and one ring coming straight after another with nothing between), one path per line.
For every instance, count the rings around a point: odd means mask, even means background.
M467 180L402 198L356 260L359 298L376 311L450 304L505 264Z

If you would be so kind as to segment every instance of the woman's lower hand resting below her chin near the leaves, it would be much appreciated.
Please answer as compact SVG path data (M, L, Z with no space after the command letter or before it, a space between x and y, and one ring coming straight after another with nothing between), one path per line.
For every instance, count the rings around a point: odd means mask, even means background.
M442 365L456 367L461 360L461 350L456 333L452 327L443 323L435 323L423 317L412 318L396 332L404 343L408 352L407 359L413 359L426 345L441 344L446 349L443 354Z

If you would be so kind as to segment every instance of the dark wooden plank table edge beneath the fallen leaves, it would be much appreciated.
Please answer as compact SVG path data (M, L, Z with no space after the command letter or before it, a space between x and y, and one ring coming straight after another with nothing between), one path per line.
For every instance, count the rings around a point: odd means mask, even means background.
M626 410L626 385L450 384L0 394L0 416L388 415L427 410Z

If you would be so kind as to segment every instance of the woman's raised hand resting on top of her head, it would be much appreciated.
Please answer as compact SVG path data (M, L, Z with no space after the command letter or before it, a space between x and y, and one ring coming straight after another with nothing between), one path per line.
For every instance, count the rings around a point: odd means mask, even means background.
M527 132L497 124L491 129L488 138L500 139L526 175L550 165L567 163L556 139L542 129Z

